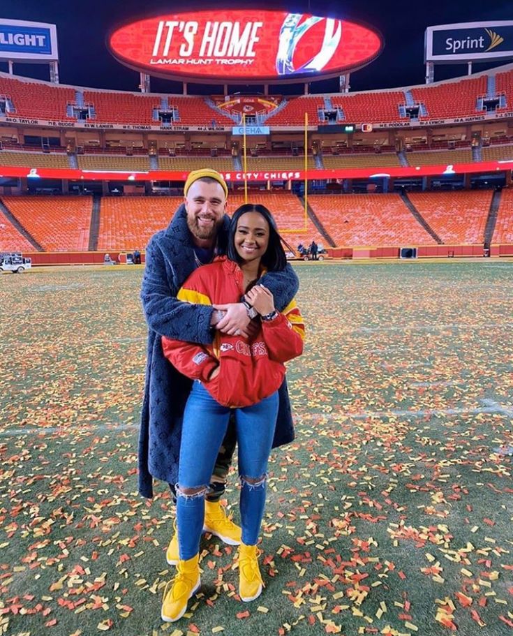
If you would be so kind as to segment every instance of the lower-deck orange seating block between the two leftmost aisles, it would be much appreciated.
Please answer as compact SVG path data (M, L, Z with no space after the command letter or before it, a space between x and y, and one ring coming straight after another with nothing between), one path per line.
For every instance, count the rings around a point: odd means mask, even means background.
M91 197L6 196L2 200L45 251L89 249Z

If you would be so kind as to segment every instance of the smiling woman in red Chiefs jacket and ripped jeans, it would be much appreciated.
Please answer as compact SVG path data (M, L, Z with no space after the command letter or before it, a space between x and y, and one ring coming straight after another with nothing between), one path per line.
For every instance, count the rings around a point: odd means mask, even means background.
M284 269L285 252L272 214L263 205L242 205L228 234L228 256L196 269L178 299L222 305L246 301L258 312L258 331L216 332L211 346L163 337L163 351L182 374L196 380L188 397L181 434L177 525L180 560L177 576L164 593L162 619L177 621L200 587L198 552L205 515L204 498L214 462L235 409L242 542L239 547L239 596L260 596L258 534L265 508L267 461L278 414L278 388L287 360L301 355L304 325L295 301L283 313L272 293L256 281L265 271Z

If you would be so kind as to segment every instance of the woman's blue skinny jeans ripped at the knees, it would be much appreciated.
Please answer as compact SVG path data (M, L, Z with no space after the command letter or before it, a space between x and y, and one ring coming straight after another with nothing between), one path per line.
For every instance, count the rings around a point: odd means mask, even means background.
M245 408L235 409L242 540L256 545L265 509L267 461L272 448L278 392ZM177 526L180 559L198 554L205 522L205 494L228 427L230 408L221 406L198 380L193 383L181 432L177 487ZM184 489L194 491L184 494Z

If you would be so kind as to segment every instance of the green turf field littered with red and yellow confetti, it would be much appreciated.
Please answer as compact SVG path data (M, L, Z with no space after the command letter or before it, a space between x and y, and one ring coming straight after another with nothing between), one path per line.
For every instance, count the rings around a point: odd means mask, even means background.
M0 634L453 631L437 616L513 633L512 458L495 452L513 443L513 263L298 273L308 344L288 374L297 439L270 465L266 589L239 602L234 551L205 538L174 625L170 498L137 495L142 272L0 277ZM238 518L235 475L227 498Z

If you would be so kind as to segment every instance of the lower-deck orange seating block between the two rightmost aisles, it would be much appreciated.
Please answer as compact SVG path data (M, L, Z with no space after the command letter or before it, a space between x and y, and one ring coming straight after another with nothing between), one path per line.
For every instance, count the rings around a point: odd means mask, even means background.
M412 192L408 197L447 245L484 242L491 191Z

